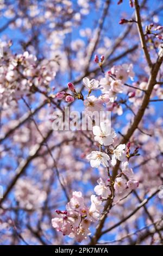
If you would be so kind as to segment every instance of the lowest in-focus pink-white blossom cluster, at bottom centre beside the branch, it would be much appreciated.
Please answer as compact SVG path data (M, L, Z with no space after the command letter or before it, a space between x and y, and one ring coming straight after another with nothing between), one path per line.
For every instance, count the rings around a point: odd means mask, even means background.
M90 224L99 219L102 201L95 195L91 196L91 206L85 205L82 192L74 191L65 211L56 210L52 225L63 235L76 237L78 242L91 235Z

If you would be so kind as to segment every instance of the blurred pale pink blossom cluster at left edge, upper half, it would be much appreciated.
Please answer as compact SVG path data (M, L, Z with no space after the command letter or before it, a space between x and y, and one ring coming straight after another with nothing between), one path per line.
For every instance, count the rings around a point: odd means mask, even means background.
M1 42L3 56L0 59L0 100L2 106L14 104L22 96L29 95L37 88L45 89L55 77L55 68L51 60L37 61L27 51L12 54L11 42Z

